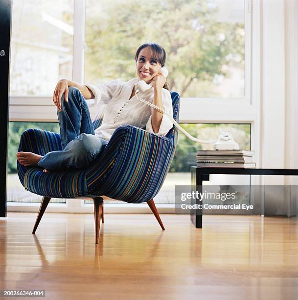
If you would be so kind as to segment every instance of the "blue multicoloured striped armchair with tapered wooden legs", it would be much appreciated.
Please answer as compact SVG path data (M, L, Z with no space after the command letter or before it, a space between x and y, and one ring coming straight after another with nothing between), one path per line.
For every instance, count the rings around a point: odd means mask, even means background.
M176 92L171 92L171 97L173 116L178 122L180 97ZM102 116L103 113L94 118L94 128L101 124ZM51 198L92 198L97 244L100 217L102 222L104 220L102 196L128 203L147 202L164 230L153 198L160 191L169 170L177 138L175 126L164 137L132 125L121 125L100 157L86 169L45 173L42 168L25 167L18 162L23 187L44 196L32 233L35 233ZM19 151L45 155L54 150L62 150L60 134L40 129L23 132Z

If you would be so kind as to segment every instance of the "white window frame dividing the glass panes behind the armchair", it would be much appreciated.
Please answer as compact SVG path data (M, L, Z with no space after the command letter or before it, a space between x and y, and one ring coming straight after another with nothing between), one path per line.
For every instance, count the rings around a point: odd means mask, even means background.
M245 2L245 96L238 99L182 98L180 123L238 123L251 124L251 147L259 153L259 100L260 100L260 3ZM72 80L83 83L86 1L74 0L73 74ZM252 40L253 35L253 40ZM252 42L253 41L253 42ZM252 60L252 58L254 58ZM94 116L95 109L91 109ZM52 97L12 96L9 121L58 122ZM258 154L255 157L258 165ZM252 184L259 184L252 179ZM8 211L38 211L40 203L8 202ZM147 205L106 204L106 212L149 212ZM173 213L174 204L157 204L160 212ZM92 212L92 204L82 199L66 203L50 203L48 212Z

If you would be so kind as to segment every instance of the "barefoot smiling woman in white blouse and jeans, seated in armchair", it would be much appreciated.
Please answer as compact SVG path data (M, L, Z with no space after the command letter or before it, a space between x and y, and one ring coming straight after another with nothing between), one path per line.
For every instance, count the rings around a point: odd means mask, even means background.
M115 129L123 124L146 127L149 132L166 135L173 123L135 96L135 85L139 80L152 83L153 89L139 92L138 97L164 108L169 116L173 115L168 84L160 72L165 58L165 50L160 45L147 43L135 54L137 77L127 82L115 79L94 86L59 80L53 101L57 106L63 150L48 152L45 156L18 152L19 163L45 168L44 172L86 167L102 152ZM102 124L95 131L86 102L92 99L89 106L106 105Z

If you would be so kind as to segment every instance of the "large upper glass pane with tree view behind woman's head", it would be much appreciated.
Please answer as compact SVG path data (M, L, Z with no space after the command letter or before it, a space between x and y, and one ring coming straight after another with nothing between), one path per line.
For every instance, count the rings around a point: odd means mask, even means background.
M87 0L85 82L136 77L135 51L152 41L181 97L244 97L244 0Z

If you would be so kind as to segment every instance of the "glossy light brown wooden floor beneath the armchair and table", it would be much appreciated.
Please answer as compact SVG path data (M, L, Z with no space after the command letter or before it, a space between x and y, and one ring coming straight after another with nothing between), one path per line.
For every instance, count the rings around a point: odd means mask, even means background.
M46 299L298 299L298 218L92 214L0 218L0 289ZM15 298L14 298L15 299ZM23 298L22 298L23 299Z

